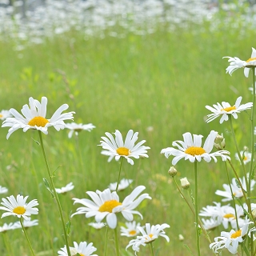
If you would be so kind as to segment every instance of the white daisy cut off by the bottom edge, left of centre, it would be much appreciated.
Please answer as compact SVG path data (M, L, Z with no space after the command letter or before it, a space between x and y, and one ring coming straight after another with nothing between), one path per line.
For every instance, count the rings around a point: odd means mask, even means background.
M84 256L98 256L98 254L92 254L94 251L97 250L93 243L90 242L80 242L79 245L77 242L74 242L74 247L70 247L70 254L71 256L76 256L77 254L84 255ZM58 256L68 256L66 246L58 250Z

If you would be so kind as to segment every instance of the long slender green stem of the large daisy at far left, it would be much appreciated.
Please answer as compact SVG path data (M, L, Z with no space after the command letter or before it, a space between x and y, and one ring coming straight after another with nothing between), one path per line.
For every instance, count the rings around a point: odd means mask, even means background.
M71 256L70 246L69 246L69 242L68 242L68 238L67 238L67 234L66 234L66 226L65 226L65 222L64 222L64 218L63 218L63 214L62 214L62 206L61 206L61 203L59 202L58 194L55 190L54 180L53 180L53 178L50 174L50 168L49 168L49 164L48 164L48 161L47 161L47 158L46 158L46 151L45 151L45 148L44 148L43 142L42 142L42 133L41 133L40 130L38 130L38 133L39 133L39 138L40 138L40 145L42 147L43 158L45 159L45 162L46 162L46 170L47 170L48 176L50 178L50 185L52 187L52 192L54 193L54 198L56 199L56 202L57 202L58 213L59 213L59 215L61 217L61 220L62 220L62 229L63 229L64 239L65 239L65 243L66 243L67 254L68 254L68 256Z

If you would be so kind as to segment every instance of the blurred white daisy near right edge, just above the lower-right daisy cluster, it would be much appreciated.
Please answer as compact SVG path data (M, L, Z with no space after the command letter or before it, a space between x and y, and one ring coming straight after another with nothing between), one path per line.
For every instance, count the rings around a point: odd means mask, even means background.
M245 179L245 177L243 177L242 179L241 178L239 178L239 179L240 179L240 182L242 184L242 188L244 190L246 190L246 179ZM250 181L250 190L254 190L255 183L256 182L254 181L254 179L252 179ZM241 189L241 187L238 187L237 182L236 182L236 178L232 178L232 182L231 182L230 185L229 184L223 184L224 191L223 190L216 190L216 192L215 192L215 194L218 194L218 195L224 197L222 199L222 202L227 202L227 201L233 200L231 190L230 190L230 186L231 186L231 189L232 189L232 192L233 192L235 198L242 198L243 197L242 189Z

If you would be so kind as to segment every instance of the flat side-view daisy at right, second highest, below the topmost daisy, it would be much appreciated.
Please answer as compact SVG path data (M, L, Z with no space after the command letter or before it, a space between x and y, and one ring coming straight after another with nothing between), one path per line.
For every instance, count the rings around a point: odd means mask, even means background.
M241 101L242 97L240 96L237 98L234 106L230 106L230 103L228 102L222 102L222 104L217 102L217 105L214 104L214 107L206 106L207 110L213 112L213 114L207 114L208 119L206 120L206 122L211 122L215 118L222 116L222 118L219 120L219 122L222 123L229 120L229 115L232 115L235 119L237 119L238 113L243 110L248 110L253 106L253 102L248 102L246 104L240 105Z

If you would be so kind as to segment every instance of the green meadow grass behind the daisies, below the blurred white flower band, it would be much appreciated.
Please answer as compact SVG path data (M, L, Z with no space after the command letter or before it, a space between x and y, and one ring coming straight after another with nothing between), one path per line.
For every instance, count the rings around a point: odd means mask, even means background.
M226 137L226 150L234 159L234 144L228 123L218 121L206 124L205 106L216 102L235 102L242 95L242 102L251 101L248 79L242 70L235 75L225 73L228 63L223 56L250 55L254 46L254 33L244 29L222 29L210 32L191 26L167 32L164 26L154 34L138 36L128 34L126 38L89 38L85 40L81 32L70 32L47 40L42 45L31 45L21 53L12 51L12 42L0 42L0 92L1 108L21 110L28 98L48 98L48 114L63 103L74 110L74 122L92 122L96 129L90 133L67 138L67 130L57 132L53 128L43 135L50 169L56 170L56 187L74 183L74 190L60 195L60 201L68 218L73 206L71 198L86 198L86 191L104 190L110 182L118 178L118 162L107 162L97 146L106 131L118 129L123 135L130 129L139 132L139 140L146 139L150 146L149 158L134 161L134 166L124 162L122 178L132 178L131 188L120 192L120 198L130 193L138 185L146 186L146 193L153 198L138 207L144 216L140 221L151 224L168 223L166 234L170 242L158 239L154 248L158 255L187 255L184 243L195 252L194 217L179 196L172 179L167 174L171 158L166 159L160 151L171 146L174 140L182 139L182 134L203 134L217 130ZM202 28L201 28L202 29ZM249 116L239 115L234 122L239 146L250 146ZM153 129L149 129L152 127ZM248 132L249 134L250 132ZM38 132L16 131L6 140L7 129L0 132L1 142L1 186L6 186L10 194L30 195L30 200L38 198L39 226L30 228L32 246L36 254L56 255L64 246L62 228L58 221L57 208L50 193L43 185L46 167L38 141ZM82 158L80 158L80 155ZM239 167L239 162L234 162ZM6 168L8 166L8 168ZM193 168L190 162L178 162L178 178L187 177L193 189ZM227 183L224 163L210 162L198 164L199 210L213 201L220 202L214 194ZM5 196L5 195L3 195ZM125 219L121 218L122 222ZM4 218L1 223L14 222L15 218ZM95 252L103 254L105 229L93 230L88 226L94 218L82 215L72 219L70 244L73 241L94 242ZM220 230L210 237L219 235ZM185 238L178 240L178 234ZM21 230L3 234L10 242L13 255L30 255ZM114 233L109 232L108 252L114 254ZM122 255L132 255L123 250L130 239L120 238ZM210 255L209 244L202 241L202 254ZM3 245L3 237L0 238ZM226 252L223 254L225 255ZM8 255L0 246L0 254ZM142 255L150 254L150 248L142 248Z

